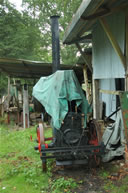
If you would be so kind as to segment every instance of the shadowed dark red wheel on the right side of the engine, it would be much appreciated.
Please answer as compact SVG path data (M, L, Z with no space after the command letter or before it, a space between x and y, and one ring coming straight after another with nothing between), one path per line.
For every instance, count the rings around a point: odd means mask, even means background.
M92 120L89 125L89 144L98 146L101 142L101 130L99 124ZM94 152L99 152L99 149L94 150ZM91 167L97 167L100 165L101 157L94 154L91 156L90 164Z

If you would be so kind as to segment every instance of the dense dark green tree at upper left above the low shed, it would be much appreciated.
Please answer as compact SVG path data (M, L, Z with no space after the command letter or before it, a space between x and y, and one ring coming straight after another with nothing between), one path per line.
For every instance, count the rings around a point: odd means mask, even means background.
M41 32L26 11L20 13L8 1L0 6L0 57L41 59Z

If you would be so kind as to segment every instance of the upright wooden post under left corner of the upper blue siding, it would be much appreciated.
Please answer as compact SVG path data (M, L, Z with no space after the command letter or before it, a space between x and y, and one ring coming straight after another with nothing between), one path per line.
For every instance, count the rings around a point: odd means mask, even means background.
M99 80L93 79L93 118L100 119Z

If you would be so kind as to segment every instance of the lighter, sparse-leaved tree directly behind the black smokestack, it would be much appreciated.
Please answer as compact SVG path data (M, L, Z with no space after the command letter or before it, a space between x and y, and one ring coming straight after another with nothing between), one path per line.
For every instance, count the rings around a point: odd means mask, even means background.
M74 64L77 61L77 48L72 46L64 46L62 39L64 32L82 0L23 0L23 7L32 15L39 23L39 27L43 34L42 49L49 50L51 56L51 21L50 16L59 15L60 23L60 43L61 43L61 63Z

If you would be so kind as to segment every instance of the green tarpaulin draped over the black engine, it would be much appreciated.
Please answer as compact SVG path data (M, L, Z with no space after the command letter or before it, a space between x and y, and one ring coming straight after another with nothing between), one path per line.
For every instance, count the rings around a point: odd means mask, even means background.
M57 71L50 76L40 78L33 87L33 96L52 117L56 129L61 127L68 112L68 101L76 100L77 107L81 104L82 113L85 114L86 127L90 107L73 70Z

